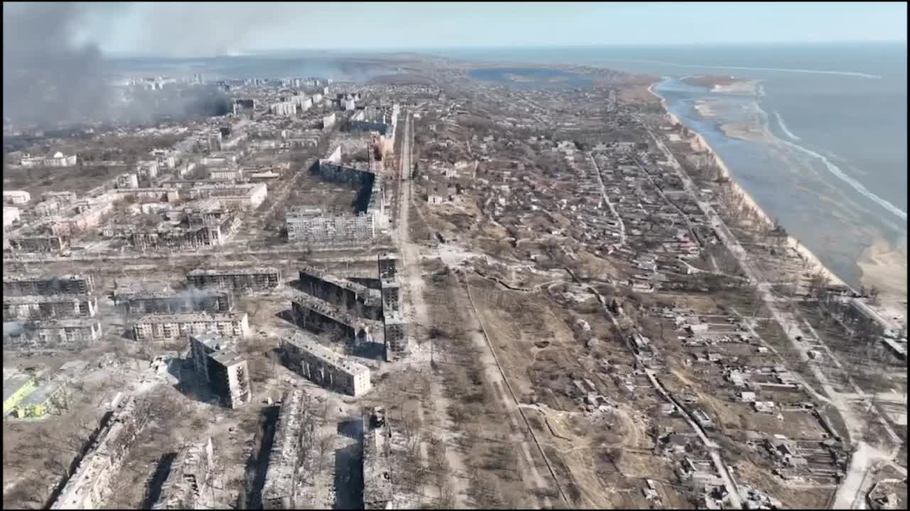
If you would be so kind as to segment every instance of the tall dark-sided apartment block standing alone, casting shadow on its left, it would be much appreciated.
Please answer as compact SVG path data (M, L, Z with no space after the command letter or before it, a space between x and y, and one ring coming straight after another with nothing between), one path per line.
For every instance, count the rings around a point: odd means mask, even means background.
M233 344L213 334L189 337L196 373L205 378L212 391L228 408L249 403L249 367Z

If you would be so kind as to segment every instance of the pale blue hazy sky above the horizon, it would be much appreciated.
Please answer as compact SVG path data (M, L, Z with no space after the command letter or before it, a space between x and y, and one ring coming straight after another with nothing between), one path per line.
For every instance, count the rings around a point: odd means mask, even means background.
M161 56L263 49L905 42L906 11L903 2L111 3L80 4L74 37L106 54Z

